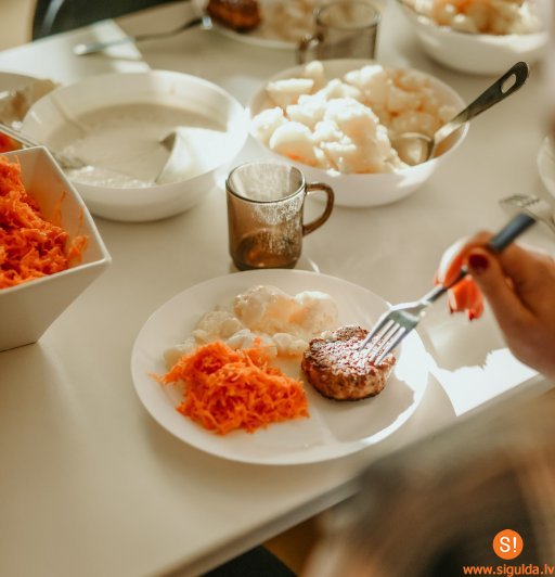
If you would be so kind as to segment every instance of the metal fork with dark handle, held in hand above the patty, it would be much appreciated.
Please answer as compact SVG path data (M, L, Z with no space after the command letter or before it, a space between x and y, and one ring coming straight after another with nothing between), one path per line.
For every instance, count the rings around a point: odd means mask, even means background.
M519 213L490 240L488 247L494 253L501 253L535 221L537 217L534 215ZM418 324L427 308L447 293L449 288L462 281L467 273L468 271L463 267L457 278L450 285L436 286L420 300L391 307L382 315L372 331L370 331L362 342L360 350L372 342L372 347L369 349L369 360L374 364L380 364L387 355Z

